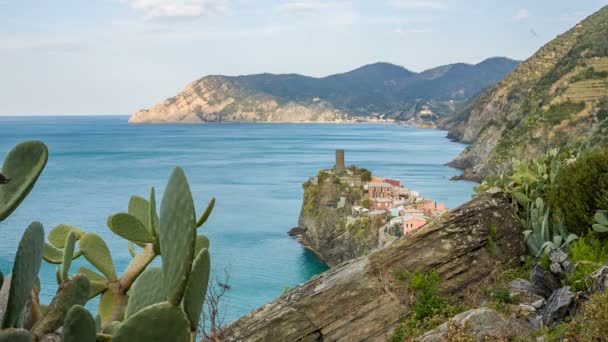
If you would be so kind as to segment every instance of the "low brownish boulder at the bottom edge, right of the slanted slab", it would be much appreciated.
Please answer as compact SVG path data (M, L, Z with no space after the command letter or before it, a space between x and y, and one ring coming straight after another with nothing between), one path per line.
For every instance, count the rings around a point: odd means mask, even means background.
M452 325L450 327L450 324ZM511 341L531 339L531 326L522 319L509 318L496 310L479 308L454 316L450 322L415 339L416 342L451 341L454 333L465 334L475 341Z

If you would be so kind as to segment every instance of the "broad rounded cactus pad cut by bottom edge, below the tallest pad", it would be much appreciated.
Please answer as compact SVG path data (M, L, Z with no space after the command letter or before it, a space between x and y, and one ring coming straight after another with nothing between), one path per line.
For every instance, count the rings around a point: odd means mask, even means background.
M162 215L161 215L162 218ZM124 321L112 342L190 342L188 318L179 306L163 302Z

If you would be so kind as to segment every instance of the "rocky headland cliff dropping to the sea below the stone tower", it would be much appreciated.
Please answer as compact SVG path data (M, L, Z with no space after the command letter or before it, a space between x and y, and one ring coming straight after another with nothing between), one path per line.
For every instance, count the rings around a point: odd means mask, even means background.
M378 247L378 229L386 214L350 217L366 198L360 174L341 177L323 172L304 183L299 229L301 242L328 265L365 255Z

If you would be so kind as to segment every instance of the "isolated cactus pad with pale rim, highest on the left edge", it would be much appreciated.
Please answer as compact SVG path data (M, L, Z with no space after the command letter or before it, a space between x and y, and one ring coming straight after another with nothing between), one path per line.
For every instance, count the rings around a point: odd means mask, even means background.
M0 186L0 221L17 209L32 190L48 158L48 149L41 141L22 142L8 153L1 173L10 181Z

